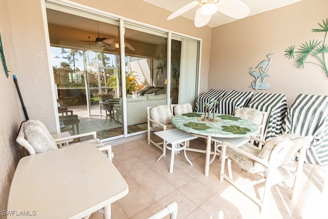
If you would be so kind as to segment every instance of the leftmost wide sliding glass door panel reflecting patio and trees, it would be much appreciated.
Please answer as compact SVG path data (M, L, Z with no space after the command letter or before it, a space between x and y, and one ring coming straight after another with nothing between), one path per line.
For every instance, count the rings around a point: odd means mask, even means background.
M85 16L74 13L47 9L61 107L60 130L71 134L96 131L100 139L109 140L123 136L123 118L115 110L121 106L119 50L110 46L112 39L118 37L118 21L100 16L99 20L91 19L90 16L97 17L87 12ZM112 77L117 79L115 84L108 83ZM104 103L100 102L101 97ZM68 112L64 112L64 107Z

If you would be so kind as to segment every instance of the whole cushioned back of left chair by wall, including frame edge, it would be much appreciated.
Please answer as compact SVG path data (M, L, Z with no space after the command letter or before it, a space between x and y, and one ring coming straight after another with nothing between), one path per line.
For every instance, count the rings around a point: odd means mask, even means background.
M39 120L28 120L20 126L16 142L29 154L56 150L58 146L46 126Z

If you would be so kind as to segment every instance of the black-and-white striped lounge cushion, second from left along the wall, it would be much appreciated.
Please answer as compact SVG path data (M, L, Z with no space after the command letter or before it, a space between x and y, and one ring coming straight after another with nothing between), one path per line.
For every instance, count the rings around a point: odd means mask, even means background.
M244 107L248 104L254 92L241 92L232 90L224 95L218 104L216 113L234 115L237 107Z

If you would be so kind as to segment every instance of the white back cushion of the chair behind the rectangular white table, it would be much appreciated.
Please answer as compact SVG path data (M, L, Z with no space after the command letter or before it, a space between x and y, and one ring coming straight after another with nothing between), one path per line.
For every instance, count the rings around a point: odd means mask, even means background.
M24 134L36 153L58 149L47 127L39 120L28 120L24 125Z

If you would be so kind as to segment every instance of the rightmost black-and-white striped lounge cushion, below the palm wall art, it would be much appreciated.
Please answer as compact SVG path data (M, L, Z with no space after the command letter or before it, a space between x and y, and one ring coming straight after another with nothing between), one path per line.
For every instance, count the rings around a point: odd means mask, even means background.
M299 94L287 111L282 131L313 135L305 162L328 165L328 96Z

